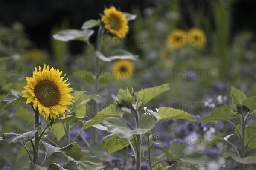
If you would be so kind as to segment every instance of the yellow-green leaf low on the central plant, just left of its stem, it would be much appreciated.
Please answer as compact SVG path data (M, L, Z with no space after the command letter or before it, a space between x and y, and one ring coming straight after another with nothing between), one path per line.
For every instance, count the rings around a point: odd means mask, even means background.
M110 134L102 140L100 145L103 149L107 150L108 153L114 153L118 150L128 147L130 145L128 140L130 140L131 143L134 142L133 138L119 138L117 135Z

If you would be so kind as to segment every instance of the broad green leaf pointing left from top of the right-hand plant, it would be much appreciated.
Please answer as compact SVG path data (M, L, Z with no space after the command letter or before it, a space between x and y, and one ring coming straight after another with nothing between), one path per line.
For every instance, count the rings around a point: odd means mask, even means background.
M208 122L215 122L215 121L227 121L230 118L230 115L233 115L233 109L231 105L223 105L221 107L215 108L209 115L204 116L203 118L194 121L199 122L202 121L205 124ZM233 118L233 117L232 117Z

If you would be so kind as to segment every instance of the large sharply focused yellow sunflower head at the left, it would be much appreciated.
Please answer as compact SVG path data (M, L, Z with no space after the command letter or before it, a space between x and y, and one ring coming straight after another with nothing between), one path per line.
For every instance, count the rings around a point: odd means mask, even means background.
M73 96L69 94L72 91L72 88L68 88L68 84L65 84L66 80L63 81L63 77L60 77L62 71L54 69L53 67L49 69L49 66L44 68L41 71L35 67L32 77L26 77L27 85L24 87L25 90L22 91L25 93L23 97L27 98L26 104L33 103L33 107L37 107L38 111L47 119L50 116L50 119L56 118L59 114L62 114L65 117L67 105L71 105Z

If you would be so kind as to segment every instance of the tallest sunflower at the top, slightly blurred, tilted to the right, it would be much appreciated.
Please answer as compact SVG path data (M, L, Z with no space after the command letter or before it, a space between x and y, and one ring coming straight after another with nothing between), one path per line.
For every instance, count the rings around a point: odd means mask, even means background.
M105 29L120 38L125 37L129 30L125 14L116 10L114 6L104 10L101 20L105 24Z

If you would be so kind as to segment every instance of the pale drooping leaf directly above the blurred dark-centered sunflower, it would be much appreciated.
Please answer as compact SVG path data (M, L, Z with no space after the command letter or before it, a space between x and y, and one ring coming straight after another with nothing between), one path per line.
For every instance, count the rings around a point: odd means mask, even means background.
M134 60L137 61L139 58L139 55L115 55L111 57L105 57L101 52L96 51L94 53L100 60L105 62L111 62L113 60Z

